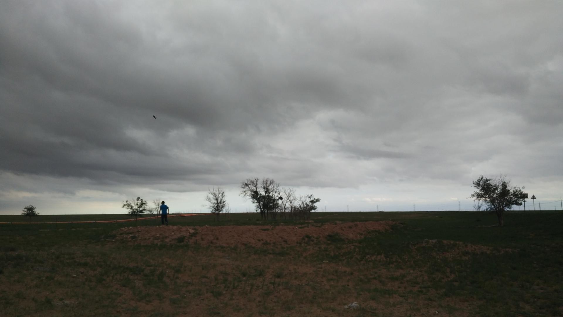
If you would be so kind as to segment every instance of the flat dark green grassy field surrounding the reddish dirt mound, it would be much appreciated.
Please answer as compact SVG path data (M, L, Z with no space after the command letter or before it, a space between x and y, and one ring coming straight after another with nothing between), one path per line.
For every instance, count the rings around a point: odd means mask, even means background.
M0 216L0 222L5 220ZM17 216L17 221L25 221ZM123 215L39 216L123 219ZM79 217L79 218L77 218ZM126 217L126 216L125 216ZM35 220L35 219L34 219ZM303 235L259 246L140 244L157 219L0 224L3 316L561 316L563 213L314 213L311 222L258 214L171 217L171 225L294 226L395 221L358 239ZM12 220L13 221L13 220ZM51 220L49 220L51 221ZM351 225L352 226L352 225ZM169 228L174 230L173 227ZM231 229L229 229L231 230ZM169 231L167 231L169 232ZM345 305L358 302L358 309Z

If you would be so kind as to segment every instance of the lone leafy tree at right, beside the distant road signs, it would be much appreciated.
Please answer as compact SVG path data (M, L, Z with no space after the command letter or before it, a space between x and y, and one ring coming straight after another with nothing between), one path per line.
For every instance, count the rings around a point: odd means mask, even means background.
M500 227L504 224L504 211L511 210L512 206L522 205L522 190L524 187L512 187L510 180L507 180L503 175L494 179L481 175L473 180L473 187L477 191L473 192L470 197L482 201L487 206L487 210L495 212Z

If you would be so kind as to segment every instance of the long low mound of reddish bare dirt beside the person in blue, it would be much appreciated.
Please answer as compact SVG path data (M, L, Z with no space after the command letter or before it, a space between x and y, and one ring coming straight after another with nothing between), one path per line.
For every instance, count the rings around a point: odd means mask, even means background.
M143 226L125 227L114 233L118 240L150 243L199 243L224 246L267 243L296 244L302 239L338 235L344 239L360 239L368 231L388 231L394 221L368 221L348 223L307 224L305 226Z

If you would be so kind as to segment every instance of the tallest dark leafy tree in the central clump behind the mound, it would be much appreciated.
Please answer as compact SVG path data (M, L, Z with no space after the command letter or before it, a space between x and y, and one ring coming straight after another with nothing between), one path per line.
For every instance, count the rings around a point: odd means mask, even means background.
M270 178L248 178L240 184L240 195L252 200L256 205L256 212L262 219L267 219L270 213L275 213L279 206L279 184Z

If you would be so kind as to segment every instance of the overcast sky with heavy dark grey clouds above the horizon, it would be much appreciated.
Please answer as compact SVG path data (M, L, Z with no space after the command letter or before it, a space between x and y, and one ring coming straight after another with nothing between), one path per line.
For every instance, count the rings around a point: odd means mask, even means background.
M123 213L136 196L199 211L214 186L241 212L253 177L329 211L471 208L472 180L501 173L559 200L562 15L559 0L3 0L0 213Z

